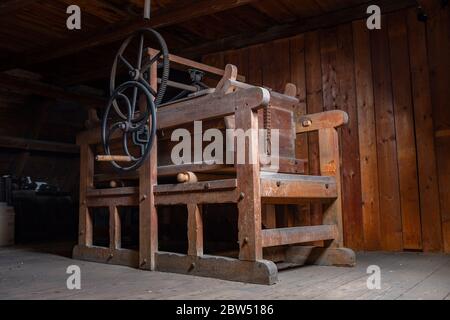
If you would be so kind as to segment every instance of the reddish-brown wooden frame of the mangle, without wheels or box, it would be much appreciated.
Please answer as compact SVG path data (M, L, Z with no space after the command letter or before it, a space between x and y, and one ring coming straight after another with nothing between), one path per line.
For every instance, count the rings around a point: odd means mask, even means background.
M150 51L152 52L152 51ZM173 59L173 56L172 56ZM178 62L184 61L177 58ZM188 61L189 62L189 61ZM151 85L157 86L155 70ZM174 128L192 121L228 117L232 126L258 129L258 111L270 107L290 107L298 104L296 88L288 85L285 94L237 81L237 69L227 66L214 93L175 102L158 110L158 129ZM320 176L292 173L268 173L259 161L235 165L235 179L158 185L159 171L176 173L182 167L158 167L157 141L148 160L140 168L139 186L95 190L94 152L90 144L99 142L98 130L81 133L80 236L74 257L104 263L124 264L146 270L158 270L260 284L277 281L277 266L265 259L268 247L277 256L294 265L355 264L352 250L343 248L341 177L339 141L336 128L345 125L348 116L342 111L330 111L296 119L295 134L318 131ZM246 144L253 157L259 157L258 138L251 136ZM205 165L187 164L185 168L205 172ZM220 170L211 166L211 171ZM295 172L295 170L292 170ZM183 171L178 171L183 172ZM290 172L290 171L288 171ZM136 176L135 176L136 178ZM323 225L276 228L273 220L275 204L298 204L315 201L325 207ZM239 258L204 255L202 205L235 203L238 207ZM185 205L188 212L188 252L184 255L158 251L159 205ZM139 206L139 251L120 248L119 205ZM110 246L92 246L92 221L89 207L107 206L110 212ZM273 229L263 230L265 225ZM324 241L325 247L292 246ZM285 247L291 245L290 247ZM273 250L271 251L273 252Z

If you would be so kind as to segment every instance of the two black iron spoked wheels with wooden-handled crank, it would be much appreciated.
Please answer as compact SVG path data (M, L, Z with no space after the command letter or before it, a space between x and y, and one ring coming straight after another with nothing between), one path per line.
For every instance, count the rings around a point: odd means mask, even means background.
M150 0L146 0L144 19L150 18ZM149 45L157 54L148 57ZM137 45L137 59L130 58ZM147 59L144 59L146 57ZM134 63L133 63L134 62ZM152 68L162 69L158 89L150 86ZM120 69L127 72L126 81L118 84ZM147 158L156 136L156 110L162 103L169 80L169 52L163 37L151 28L137 30L121 45L115 57L110 78L110 99L102 120L104 159L120 171L138 169ZM125 156L114 156L113 139L122 138ZM126 163L126 164L124 164Z

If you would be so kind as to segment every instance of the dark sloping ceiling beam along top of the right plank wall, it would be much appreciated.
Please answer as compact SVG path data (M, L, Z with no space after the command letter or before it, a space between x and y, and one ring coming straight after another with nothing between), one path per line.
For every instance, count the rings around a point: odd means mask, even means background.
M371 4L377 4L382 14L398 11L401 9L417 6L416 0L379 0ZM367 15L368 4L358 5L347 9L341 9L324 15L302 19L293 23L277 25L263 32L248 32L227 38L193 46L181 50L177 54L189 58L200 58L202 55L221 52L231 49L239 49L251 45L265 43L275 39L292 37L307 31L329 28L354 20L364 19Z

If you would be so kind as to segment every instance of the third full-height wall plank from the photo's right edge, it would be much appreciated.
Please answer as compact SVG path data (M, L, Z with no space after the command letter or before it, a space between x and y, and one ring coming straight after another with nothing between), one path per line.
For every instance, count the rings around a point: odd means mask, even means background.
M421 249L420 204L411 98L408 34L404 12L388 16L397 141L403 247Z

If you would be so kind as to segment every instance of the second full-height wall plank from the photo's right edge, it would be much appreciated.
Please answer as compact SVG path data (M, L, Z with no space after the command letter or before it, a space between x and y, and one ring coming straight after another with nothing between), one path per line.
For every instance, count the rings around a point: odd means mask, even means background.
M442 231L425 26L417 21L413 11L408 14L408 26L417 132L423 246L426 251L438 251L441 249ZM448 197L448 194L444 197Z

